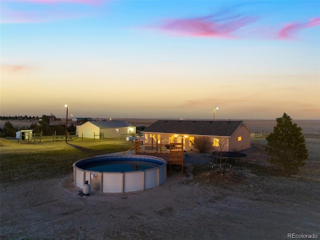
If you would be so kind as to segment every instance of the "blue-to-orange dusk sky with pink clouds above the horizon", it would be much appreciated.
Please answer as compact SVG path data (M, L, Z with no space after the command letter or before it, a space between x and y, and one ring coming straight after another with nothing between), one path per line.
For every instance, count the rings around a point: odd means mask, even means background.
M0 5L1 116L320 119L320 1Z

